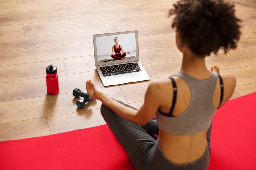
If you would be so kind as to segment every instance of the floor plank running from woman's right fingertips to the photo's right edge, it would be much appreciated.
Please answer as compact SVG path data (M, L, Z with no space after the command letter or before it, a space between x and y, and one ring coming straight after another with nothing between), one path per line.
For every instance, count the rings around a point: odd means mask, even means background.
M221 73L230 73L236 77L236 85L256 83L256 65L240 67L239 69L221 70Z

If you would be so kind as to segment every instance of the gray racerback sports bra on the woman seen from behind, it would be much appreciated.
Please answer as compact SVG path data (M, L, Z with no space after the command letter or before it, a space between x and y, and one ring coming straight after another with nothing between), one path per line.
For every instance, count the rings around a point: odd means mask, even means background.
M175 81L170 77L174 89L172 107L170 113L163 113L158 109L156 119L159 129L171 134L188 135L209 128L212 117L217 110L213 103L213 94L218 76L221 84L220 104L223 100L223 82L220 75L213 72L211 77L204 80L193 78L182 72L175 73L172 76L179 76L187 82L191 91L191 100L188 108L181 115L172 116L178 91L176 90Z

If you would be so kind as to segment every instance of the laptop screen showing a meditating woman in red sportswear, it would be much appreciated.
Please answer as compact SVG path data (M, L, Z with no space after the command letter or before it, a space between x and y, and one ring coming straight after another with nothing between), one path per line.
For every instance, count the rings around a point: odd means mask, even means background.
M96 65L138 60L138 32L119 32L93 36Z

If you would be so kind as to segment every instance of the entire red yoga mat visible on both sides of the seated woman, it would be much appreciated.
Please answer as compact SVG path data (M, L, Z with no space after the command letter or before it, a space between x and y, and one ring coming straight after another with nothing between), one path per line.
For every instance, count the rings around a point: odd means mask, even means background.
M214 115L208 170L256 167L256 93L229 100ZM107 125L0 142L0 170L132 170Z

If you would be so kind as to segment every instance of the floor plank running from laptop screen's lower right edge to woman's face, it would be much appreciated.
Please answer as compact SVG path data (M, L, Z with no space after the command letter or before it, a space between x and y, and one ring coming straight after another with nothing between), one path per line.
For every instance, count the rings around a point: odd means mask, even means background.
M142 64L159 63L182 59L182 53L176 46L139 50Z

